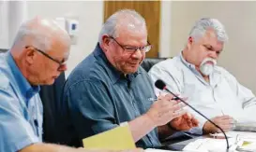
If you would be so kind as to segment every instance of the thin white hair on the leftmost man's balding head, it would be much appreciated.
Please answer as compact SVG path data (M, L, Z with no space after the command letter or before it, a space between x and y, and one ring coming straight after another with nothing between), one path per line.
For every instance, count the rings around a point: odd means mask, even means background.
M51 49L54 38L60 38L63 43L70 44L68 33L55 21L33 19L23 22L14 39L13 46L19 43L23 45L22 47L32 45L42 51L47 51Z

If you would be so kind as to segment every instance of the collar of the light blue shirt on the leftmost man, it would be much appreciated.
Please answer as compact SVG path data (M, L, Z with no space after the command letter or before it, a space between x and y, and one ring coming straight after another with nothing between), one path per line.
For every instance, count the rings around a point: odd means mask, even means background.
M14 76L14 79L18 85L19 90L21 90L23 97L30 100L35 94L40 90L39 86L31 86L26 78L23 76L21 70L18 68L17 64L10 52L7 52L7 62L10 67L10 72Z

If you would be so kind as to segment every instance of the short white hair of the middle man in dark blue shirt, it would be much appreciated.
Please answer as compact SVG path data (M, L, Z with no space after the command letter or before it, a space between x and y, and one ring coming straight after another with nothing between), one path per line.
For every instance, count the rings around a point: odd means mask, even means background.
M102 42L103 35L110 35L116 38L118 36L118 27L128 24L132 24L132 27L146 26L145 20L143 19L142 15L140 15L135 10L118 10L103 24L101 31L98 35L99 44L101 44Z

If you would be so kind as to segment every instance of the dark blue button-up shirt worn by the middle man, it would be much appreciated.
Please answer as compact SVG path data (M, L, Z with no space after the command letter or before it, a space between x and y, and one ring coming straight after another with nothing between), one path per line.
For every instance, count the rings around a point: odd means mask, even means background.
M81 146L85 137L142 116L155 98L151 80L142 67L126 77L108 62L97 46L68 76L59 105L58 114L65 123L64 130L59 130L59 140ZM136 145L144 148L160 145L157 129L148 132Z

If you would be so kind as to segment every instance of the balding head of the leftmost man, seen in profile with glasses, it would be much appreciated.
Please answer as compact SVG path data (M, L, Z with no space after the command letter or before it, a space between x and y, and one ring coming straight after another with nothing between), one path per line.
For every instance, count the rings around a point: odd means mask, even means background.
M53 84L67 70L70 37L55 21L34 18L20 27L10 53L32 85Z

